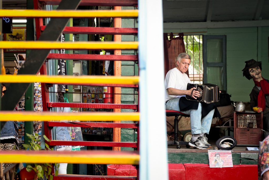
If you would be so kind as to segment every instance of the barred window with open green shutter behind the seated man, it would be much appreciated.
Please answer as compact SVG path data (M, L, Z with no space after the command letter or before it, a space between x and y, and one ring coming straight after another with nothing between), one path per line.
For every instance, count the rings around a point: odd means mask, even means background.
M183 39L186 53L191 56L190 80L197 84L217 84L226 92L226 36L186 35Z

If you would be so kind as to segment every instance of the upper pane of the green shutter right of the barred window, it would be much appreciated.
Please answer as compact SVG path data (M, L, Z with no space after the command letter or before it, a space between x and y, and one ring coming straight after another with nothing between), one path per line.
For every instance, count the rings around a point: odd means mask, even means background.
M223 62L223 39L207 39L207 63Z

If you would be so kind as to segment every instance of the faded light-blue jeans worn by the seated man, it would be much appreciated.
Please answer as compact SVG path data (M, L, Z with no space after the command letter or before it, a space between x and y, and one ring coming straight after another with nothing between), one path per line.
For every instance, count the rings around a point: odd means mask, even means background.
M166 109L180 111L179 98L170 99L166 103ZM192 134L201 134L201 133L209 134L214 111L215 111L214 109L211 110L204 118L201 119L202 104L199 103L197 110L190 109L187 111L180 111L180 112L190 115L190 128L191 128Z

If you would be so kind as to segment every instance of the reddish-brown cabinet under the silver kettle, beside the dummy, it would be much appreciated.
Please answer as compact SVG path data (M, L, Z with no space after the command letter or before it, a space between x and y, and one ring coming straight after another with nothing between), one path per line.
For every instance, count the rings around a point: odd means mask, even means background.
M238 145L259 145L263 135L263 113L233 112L233 120L234 138Z

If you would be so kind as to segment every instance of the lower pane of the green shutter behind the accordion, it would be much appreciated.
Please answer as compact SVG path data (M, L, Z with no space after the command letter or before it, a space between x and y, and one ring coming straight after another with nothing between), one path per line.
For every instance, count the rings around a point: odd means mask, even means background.
M223 67L207 67L207 82L217 84L220 90L223 88Z

